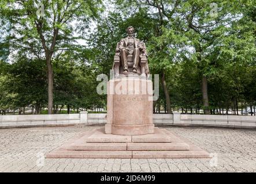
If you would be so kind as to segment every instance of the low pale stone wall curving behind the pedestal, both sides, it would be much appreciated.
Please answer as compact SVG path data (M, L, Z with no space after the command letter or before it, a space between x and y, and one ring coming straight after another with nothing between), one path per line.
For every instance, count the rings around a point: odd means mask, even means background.
M0 116L0 128L96 125L106 124L106 113L51 114L51 115L5 115ZM255 116L202 115L202 114L153 114L156 125L206 126L231 128L256 128Z

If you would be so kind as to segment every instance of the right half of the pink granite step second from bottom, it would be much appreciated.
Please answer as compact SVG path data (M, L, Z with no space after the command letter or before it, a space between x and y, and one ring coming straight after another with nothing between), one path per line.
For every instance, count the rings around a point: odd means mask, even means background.
M127 150L157 151L157 150L190 150L186 143L127 143Z

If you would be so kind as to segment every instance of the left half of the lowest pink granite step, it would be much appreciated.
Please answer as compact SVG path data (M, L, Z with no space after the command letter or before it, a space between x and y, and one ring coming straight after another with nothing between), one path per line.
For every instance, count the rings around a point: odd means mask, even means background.
M123 158L131 159L132 151L72 151L55 150L46 155L46 158Z

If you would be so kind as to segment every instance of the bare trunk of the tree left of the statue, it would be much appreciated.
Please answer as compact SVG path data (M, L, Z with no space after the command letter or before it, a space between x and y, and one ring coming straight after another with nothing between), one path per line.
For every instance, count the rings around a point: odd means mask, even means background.
M53 65L51 57L46 57L47 63L47 82L48 82L48 114L53 113Z

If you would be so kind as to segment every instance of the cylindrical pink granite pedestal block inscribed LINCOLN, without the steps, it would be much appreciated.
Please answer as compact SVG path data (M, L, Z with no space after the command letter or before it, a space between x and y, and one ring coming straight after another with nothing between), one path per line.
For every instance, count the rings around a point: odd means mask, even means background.
M110 80L107 94L107 124L112 125L111 133L114 135L153 133L152 97L150 80L138 77ZM106 133L110 133L110 125L106 126Z

